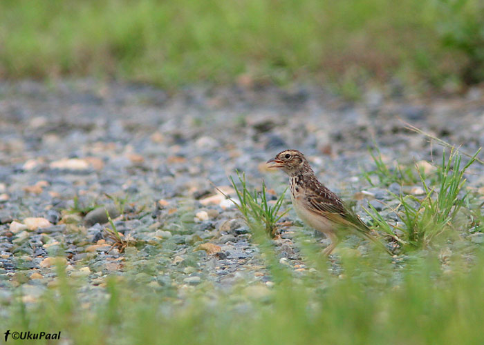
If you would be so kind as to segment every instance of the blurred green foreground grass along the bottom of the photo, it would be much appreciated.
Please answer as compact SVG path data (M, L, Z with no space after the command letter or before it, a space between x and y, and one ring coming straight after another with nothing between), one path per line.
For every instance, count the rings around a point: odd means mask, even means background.
M57 288L35 306L12 304L12 316L0 326L62 331L72 344L484 342L482 253L470 269L458 255L420 253L393 279L389 260L342 255L339 277L324 269L302 278L272 270L279 275L272 289L240 286L229 293L204 283L181 288L183 302L174 297L176 286L154 288L115 277L106 284L108 298L80 301L80 282L68 281L59 270Z

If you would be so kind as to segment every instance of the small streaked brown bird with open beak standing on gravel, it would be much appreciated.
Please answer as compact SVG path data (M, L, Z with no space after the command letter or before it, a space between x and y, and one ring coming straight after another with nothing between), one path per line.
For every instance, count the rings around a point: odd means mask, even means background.
M323 251L330 255L339 242L337 233L344 229L370 239L388 253L389 250L371 235L371 230L342 199L331 192L315 176L306 157L298 150L284 150L269 159L269 168L280 168L290 176L290 198L292 206L302 221L321 231L331 240ZM390 253L391 254L391 253Z

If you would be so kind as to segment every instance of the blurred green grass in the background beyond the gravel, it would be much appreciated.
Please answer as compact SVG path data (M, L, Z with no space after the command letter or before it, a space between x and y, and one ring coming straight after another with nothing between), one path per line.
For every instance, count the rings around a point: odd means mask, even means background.
M425 86L484 79L479 0L4 0L0 76L96 75L167 88L241 75Z

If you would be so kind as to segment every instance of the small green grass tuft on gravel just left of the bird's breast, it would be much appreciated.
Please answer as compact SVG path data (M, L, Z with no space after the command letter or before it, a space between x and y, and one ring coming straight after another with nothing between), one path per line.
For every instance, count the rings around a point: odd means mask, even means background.
M254 229L262 226L270 237L274 237L277 233L277 221L288 213L288 210L280 212L287 188L279 196L275 204L271 205L267 199L266 183L264 181L262 181L261 192L257 192L257 190L254 189L251 193L250 190L248 190L247 182L245 181L245 172L242 176L237 172L237 177L239 178L239 184L241 185L240 188L237 186L232 176L230 176L229 179L234 187L237 197L239 198L239 202L236 202L228 195L225 195L221 190L218 191L234 203L242 213L243 219L250 228Z

